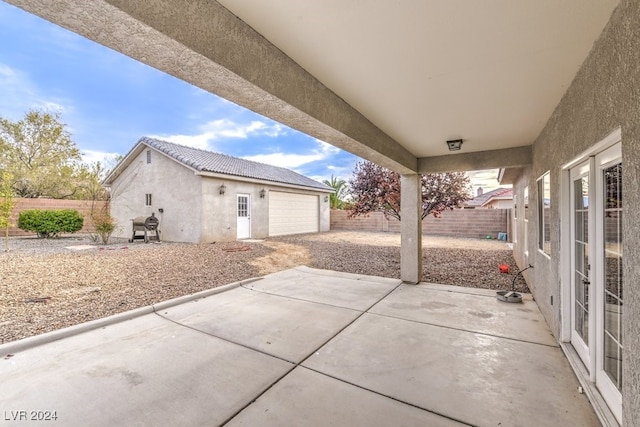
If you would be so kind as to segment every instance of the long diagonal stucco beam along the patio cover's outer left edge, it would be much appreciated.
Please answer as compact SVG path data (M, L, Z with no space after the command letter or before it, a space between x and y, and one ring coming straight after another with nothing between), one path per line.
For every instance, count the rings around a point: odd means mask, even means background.
M8 3L392 170L417 170L415 155L216 1Z

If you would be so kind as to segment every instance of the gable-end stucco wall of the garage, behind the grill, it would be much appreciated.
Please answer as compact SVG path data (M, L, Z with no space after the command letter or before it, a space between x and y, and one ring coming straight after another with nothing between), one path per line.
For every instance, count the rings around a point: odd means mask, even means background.
M142 150L111 185L111 214L118 224L114 236L130 238L131 219L154 212L162 240L199 242L201 192L201 179L193 171L155 150L147 163L147 150ZM145 194L152 195L151 206L145 206Z

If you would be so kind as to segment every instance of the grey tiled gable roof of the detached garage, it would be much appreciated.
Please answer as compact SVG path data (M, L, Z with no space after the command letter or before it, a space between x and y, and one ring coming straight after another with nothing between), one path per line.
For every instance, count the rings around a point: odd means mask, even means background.
M111 184L144 146L160 151L173 160L202 173L223 174L308 187L327 192L333 191L331 187L289 169L147 137L140 138L138 143L105 179L105 184Z

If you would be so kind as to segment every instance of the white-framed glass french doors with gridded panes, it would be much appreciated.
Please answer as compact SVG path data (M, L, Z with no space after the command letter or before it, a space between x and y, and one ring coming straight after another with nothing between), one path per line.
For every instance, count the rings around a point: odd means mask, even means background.
M614 415L622 414L620 144L570 171L571 344Z

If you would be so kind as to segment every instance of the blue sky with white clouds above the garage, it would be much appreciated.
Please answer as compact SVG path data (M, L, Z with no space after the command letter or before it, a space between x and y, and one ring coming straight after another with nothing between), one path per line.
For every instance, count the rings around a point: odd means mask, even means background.
M151 136L348 180L358 157L0 1L0 116L59 111L86 161ZM496 173L474 177L497 186ZM485 178L489 179L485 181Z

